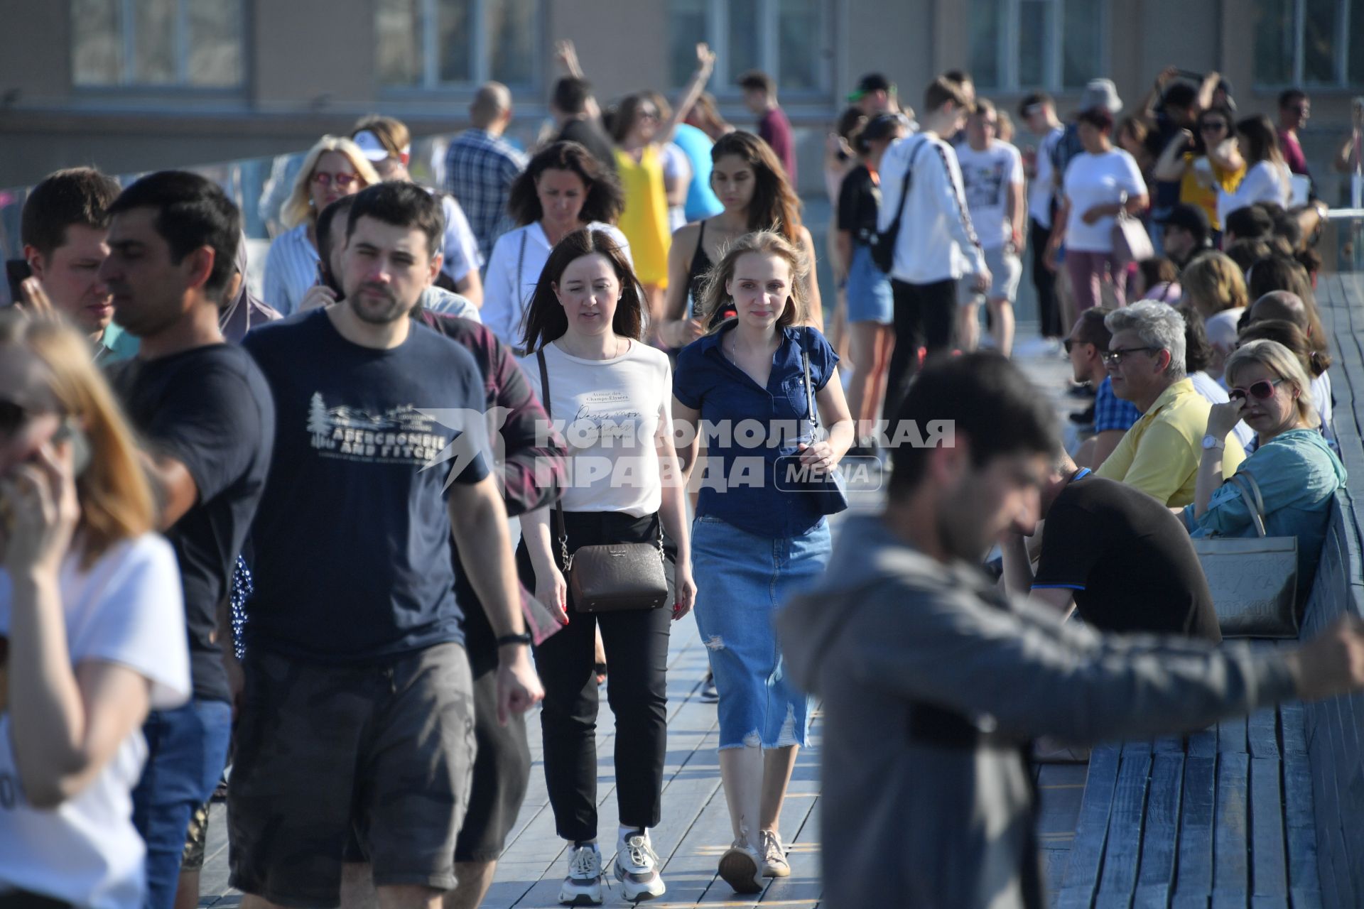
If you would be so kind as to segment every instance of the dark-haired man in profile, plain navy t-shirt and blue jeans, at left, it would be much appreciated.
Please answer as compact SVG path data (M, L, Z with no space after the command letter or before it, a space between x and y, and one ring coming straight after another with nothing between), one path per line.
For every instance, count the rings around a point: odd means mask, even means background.
M161 172L109 207L100 279L115 320L140 339L109 379L145 440L160 529L184 586L194 699L147 717L147 763L132 793L147 844L149 908L170 909L191 814L213 795L232 729L218 620L232 566L265 489L274 406L265 376L224 342L218 311L236 278L241 215L211 181Z

